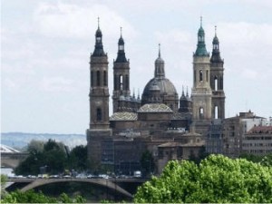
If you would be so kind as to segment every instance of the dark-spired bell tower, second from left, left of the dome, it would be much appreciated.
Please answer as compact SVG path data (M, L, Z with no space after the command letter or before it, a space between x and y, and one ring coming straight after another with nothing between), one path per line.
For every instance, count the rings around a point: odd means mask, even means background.
M117 58L113 61L113 113L118 112L120 96L130 97L130 61L124 52L124 40L120 36L118 41Z

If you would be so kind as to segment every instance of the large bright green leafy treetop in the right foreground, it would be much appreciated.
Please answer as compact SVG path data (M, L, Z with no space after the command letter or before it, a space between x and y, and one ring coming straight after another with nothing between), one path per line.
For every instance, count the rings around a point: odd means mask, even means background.
M272 168L245 159L210 155L199 165L172 160L160 178L144 183L135 202L272 202Z

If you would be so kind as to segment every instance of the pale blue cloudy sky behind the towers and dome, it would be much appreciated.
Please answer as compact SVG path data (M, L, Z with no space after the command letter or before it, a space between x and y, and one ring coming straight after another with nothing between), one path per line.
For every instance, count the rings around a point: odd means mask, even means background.
M200 16L211 53L215 25L224 58L226 117L272 116L270 0L3 0L1 1L1 131L85 133L89 127L90 54L100 17L112 67L122 37L131 92L143 91L154 61L179 96L192 87L192 54Z

